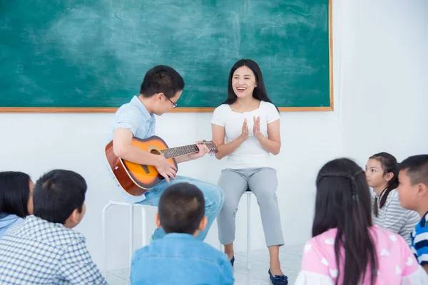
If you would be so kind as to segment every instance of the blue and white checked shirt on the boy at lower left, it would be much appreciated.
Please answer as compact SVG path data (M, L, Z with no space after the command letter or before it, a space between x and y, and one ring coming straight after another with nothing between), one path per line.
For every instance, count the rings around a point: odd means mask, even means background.
M107 284L85 238L29 216L0 239L0 284Z

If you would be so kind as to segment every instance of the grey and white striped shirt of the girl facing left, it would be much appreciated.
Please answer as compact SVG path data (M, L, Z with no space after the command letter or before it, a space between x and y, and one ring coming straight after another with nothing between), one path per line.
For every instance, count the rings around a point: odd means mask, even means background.
M377 217L374 216L372 211L373 224L399 234L410 246L410 233L413 232L414 226L419 222L419 214L401 206L398 192L395 189L389 192L387 201L381 209L380 200L383 195L384 192L379 197L375 194L372 195L372 204L374 203L374 197L377 197L378 209Z

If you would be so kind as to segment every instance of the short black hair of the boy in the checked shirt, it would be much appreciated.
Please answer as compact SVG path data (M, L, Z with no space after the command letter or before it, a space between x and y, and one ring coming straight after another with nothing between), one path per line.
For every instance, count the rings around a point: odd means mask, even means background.
M75 209L82 212L86 188L85 179L71 170L44 174L34 185L34 216L65 224Z

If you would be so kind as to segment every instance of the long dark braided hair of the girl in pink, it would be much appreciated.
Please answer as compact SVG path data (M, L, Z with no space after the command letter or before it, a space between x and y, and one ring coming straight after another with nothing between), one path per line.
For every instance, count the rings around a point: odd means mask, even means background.
M332 160L317 176L317 197L312 237L337 229L336 263L345 258L343 283L360 284L370 266L371 284L377 276L377 255L369 228L372 227L371 198L364 171L347 158ZM341 249L345 254L340 254ZM338 271L337 281L342 274Z

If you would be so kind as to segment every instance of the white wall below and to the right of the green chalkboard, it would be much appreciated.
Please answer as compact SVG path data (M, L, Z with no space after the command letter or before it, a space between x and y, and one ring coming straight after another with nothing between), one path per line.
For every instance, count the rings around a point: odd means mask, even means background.
M400 160L428 152L427 12L424 0L405 4L335 1L335 112L281 114L282 150L274 166L280 182L277 196L286 244L302 244L310 237L315 175L327 160L345 154L364 165L368 156L381 150L394 153ZM86 236L93 259L100 266L101 210L109 199L121 199L104 166L103 147L112 116L0 114L0 170L21 170L36 179L61 167L86 178L87 214L76 229ZM158 118L158 135L171 147L210 139L210 114L163 115ZM204 157L180 165L180 175L215 183L222 165L214 157ZM245 209L243 199L237 217L238 251L245 249ZM253 249L263 248L255 199L252 209ZM113 212L108 214L108 262L111 268L123 268L128 261L128 215L124 209ZM148 232L154 228L154 212L151 209L148 214ZM135 236L140 237L137 214L135 222ZM207 242L218 245L215 225ZM135 246L139 247L138 242Z

